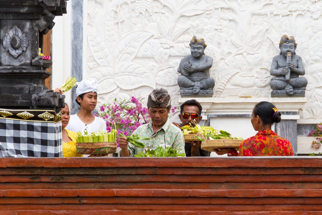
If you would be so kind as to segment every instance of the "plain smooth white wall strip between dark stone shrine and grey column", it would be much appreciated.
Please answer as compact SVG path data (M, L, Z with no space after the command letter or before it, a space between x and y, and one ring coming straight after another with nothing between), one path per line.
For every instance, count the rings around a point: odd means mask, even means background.
M56 16L52 29L52 88L61 87L71 75L71 1L67 2L67 14ZM70 104L70 92L64 93Z

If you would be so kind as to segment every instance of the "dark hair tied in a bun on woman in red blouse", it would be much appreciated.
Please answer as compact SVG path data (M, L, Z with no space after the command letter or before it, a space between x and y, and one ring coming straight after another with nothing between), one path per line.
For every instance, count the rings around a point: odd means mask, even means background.
M281 121L281 113L273 110L276 107L270 102L260 102L255 105L254 115L259 116L264 125Z

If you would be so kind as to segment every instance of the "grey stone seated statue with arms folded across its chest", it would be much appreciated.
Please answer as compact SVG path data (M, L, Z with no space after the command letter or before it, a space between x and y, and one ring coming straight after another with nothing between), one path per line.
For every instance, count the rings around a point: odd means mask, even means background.
M213 58L204 54L207 47L204 39L196 36L190 41L191 55L185 56L179 65L178 85L181 96L212 97L215 80L209 77L209 69L213 65Z

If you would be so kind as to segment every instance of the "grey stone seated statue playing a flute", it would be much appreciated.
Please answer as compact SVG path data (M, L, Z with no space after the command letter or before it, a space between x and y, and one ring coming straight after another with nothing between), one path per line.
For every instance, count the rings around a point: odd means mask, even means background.
M273 58L270 74L272 97L298 96L304 97L308 80L304 75L302 58L295 54L296 42L293 36L283 35L279 41L280 54Z

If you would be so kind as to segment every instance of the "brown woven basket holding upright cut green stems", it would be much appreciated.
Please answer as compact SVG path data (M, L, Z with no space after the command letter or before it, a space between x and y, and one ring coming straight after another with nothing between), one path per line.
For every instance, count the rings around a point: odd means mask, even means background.
M116 142L78 142L76 149L78 154L110 154L115 153Z

